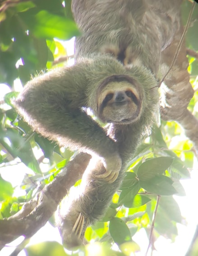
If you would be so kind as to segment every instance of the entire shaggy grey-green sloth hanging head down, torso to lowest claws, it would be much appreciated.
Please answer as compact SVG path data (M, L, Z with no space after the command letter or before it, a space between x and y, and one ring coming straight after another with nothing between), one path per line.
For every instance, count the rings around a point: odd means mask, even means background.
M35 77L14 102L33 130L97 157L78 193L61 203L57 223L67 246L81 244L87 226L104 215L127 163L151 132L159 108L158 82L170 66L166 56L183 33L180 4L73 0L74 19L82 32L75 43L75 64ZM187 72L187 66L178 69ZM189 79L188 73L185 76ZM189 81L186 87L185 109L193 95ZM166 103L161 111L168 119ZM87 108L100 123L109 123L109 129L87 115Z

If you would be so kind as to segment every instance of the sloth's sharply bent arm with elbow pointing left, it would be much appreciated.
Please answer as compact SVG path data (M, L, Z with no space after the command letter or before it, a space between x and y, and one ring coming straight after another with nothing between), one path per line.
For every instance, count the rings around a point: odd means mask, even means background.
M95 108L97 115L97 87L106 77L124 72L115 59L92 56L72 67L35 77L14 106L33 130L60 145L97 154L103 158L107 172L118 172L121 159L115 141L82 107Z

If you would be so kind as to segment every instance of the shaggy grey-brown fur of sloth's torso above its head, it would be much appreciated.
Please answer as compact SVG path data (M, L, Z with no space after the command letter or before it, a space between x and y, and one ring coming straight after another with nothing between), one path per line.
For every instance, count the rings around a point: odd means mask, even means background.
M139 58L141 65L157 74L161 51L180 27L181 2L73 0L74 18L83 32L76 40L77 61L110 45L127 50L131 55L127 58Z

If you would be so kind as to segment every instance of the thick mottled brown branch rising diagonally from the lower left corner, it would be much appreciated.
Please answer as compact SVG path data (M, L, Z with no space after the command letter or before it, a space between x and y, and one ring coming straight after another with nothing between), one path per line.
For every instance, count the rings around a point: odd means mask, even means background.
M19 236L31 237L44 226L69 188L81 179L90 158L86 153L78 154L23 209L8 219L0 220L0 246Z

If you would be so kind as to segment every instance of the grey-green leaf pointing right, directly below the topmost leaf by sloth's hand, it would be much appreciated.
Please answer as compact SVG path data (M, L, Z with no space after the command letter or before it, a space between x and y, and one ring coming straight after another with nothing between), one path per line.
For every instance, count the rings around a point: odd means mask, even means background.
M140 180L140 186L147 190L147 192L157 195L172 195L177 193L175 188L171 185L173 182L170 178L164 175L157 175L149 180Z

